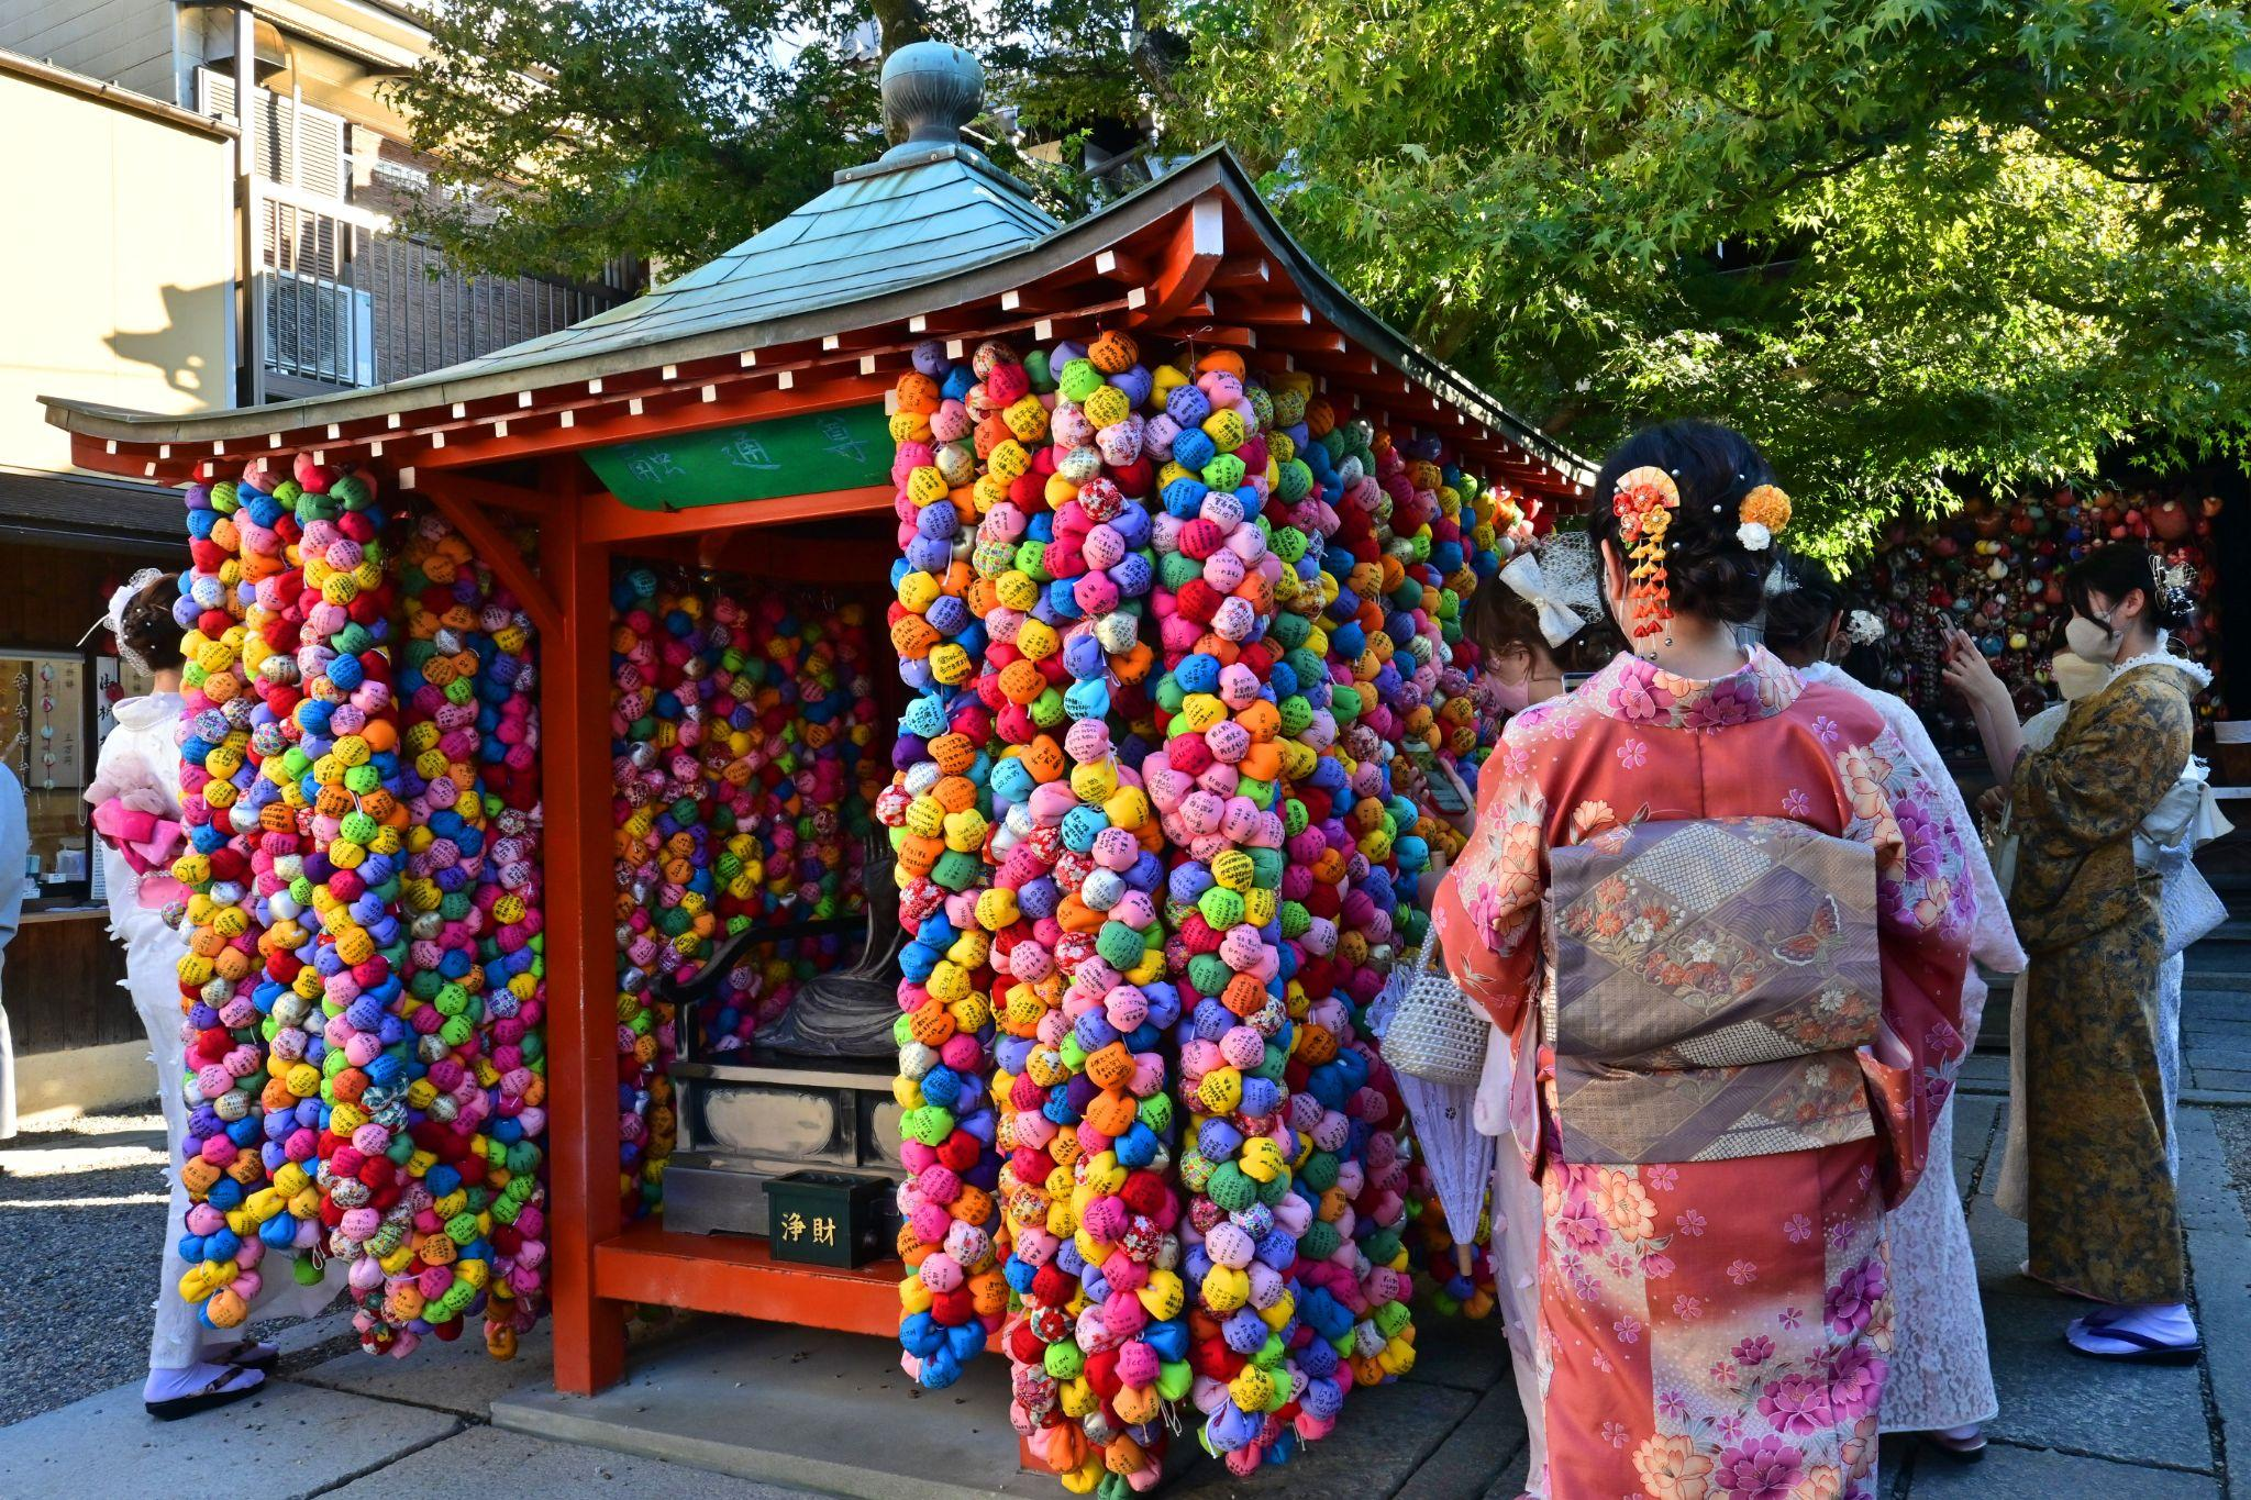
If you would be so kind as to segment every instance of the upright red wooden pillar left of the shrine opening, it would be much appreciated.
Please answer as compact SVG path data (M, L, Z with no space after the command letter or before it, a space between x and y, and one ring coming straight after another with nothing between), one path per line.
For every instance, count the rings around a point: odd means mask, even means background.
M540 573L563 616L540 652L551 1318L556 1390L594 1394L626 1372L626 1309L594 1293L594 1250L624 1217L610 938L610 553L583 535L579 461L545 468L554 508L540 517Z

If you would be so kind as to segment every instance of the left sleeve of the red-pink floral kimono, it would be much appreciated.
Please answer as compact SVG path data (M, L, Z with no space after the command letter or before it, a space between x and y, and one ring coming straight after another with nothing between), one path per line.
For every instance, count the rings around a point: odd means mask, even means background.
M1447 972L1510 1034L1540 967L1546 798L1526 749L1535 717L1540 711L1513 717L1486 760L1477 778L1477 825L1432 902Z

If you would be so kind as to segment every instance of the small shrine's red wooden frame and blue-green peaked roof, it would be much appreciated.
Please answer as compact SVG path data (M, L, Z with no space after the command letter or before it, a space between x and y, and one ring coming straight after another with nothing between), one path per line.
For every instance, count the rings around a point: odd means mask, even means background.
M948 74L950 67L950 74ZM542 634L551 1316L556 1385L624 1367L624 1304L891 1336L896 1262L781 1264L765 1239L626 1226L617 1192L610 571L680 560L878 587L896 558L885 396L925 340L954 358L1128 328L1308 371L1393 434L1569 504L1587 466L1355 304L1225 148L1056 225L963 144L975 63L887 70L909 139L660 290L446 371L203 416L50 400L77 463L185 484L311 452L428 497ZM905 74L905 76L894 76ZM504 535L536 533L527 558Z

